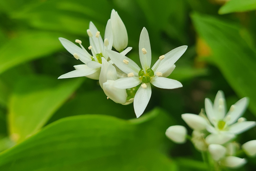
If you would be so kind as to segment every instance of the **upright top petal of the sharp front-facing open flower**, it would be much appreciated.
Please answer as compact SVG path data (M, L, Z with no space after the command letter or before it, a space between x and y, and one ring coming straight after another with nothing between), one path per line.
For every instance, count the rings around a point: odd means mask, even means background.
M143 54L142 48L147 50L146 54ZM141 35L139 37L139 60L141 61L141 66L145 70L150 68L151 65L151 47L148 36L148 31L145 27L143 27L141 31Z

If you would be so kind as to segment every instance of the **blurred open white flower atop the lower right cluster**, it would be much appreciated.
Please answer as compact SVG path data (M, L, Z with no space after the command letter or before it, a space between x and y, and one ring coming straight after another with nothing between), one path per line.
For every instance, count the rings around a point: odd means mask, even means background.
M219 91L214 103L205 99L206 115L182 114L182 119L194 130L207 130L210 134L205 138L208 144L224 144L237 134L247 131L256 125L255 121L240 118L248 105L248 98L237 101L226 112L224 93Z

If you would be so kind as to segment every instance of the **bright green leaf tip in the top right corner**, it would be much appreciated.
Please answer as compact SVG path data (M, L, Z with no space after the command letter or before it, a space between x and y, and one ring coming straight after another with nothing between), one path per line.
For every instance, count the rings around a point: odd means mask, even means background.
M230 0L219 9L219 14L244 12L256 9L256 0Z

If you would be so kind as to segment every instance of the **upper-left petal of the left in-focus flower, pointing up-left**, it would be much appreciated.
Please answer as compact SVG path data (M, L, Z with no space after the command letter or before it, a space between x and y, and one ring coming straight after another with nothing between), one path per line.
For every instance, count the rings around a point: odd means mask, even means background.
M71 53L72 55L74 55L74 53L77 53L80 57L80 61L82 61L83 63L91 61L91 55L86 50L83 50L82 48L65 38L59 37L59 41L64 46L64 48L69 51L69 53Z

